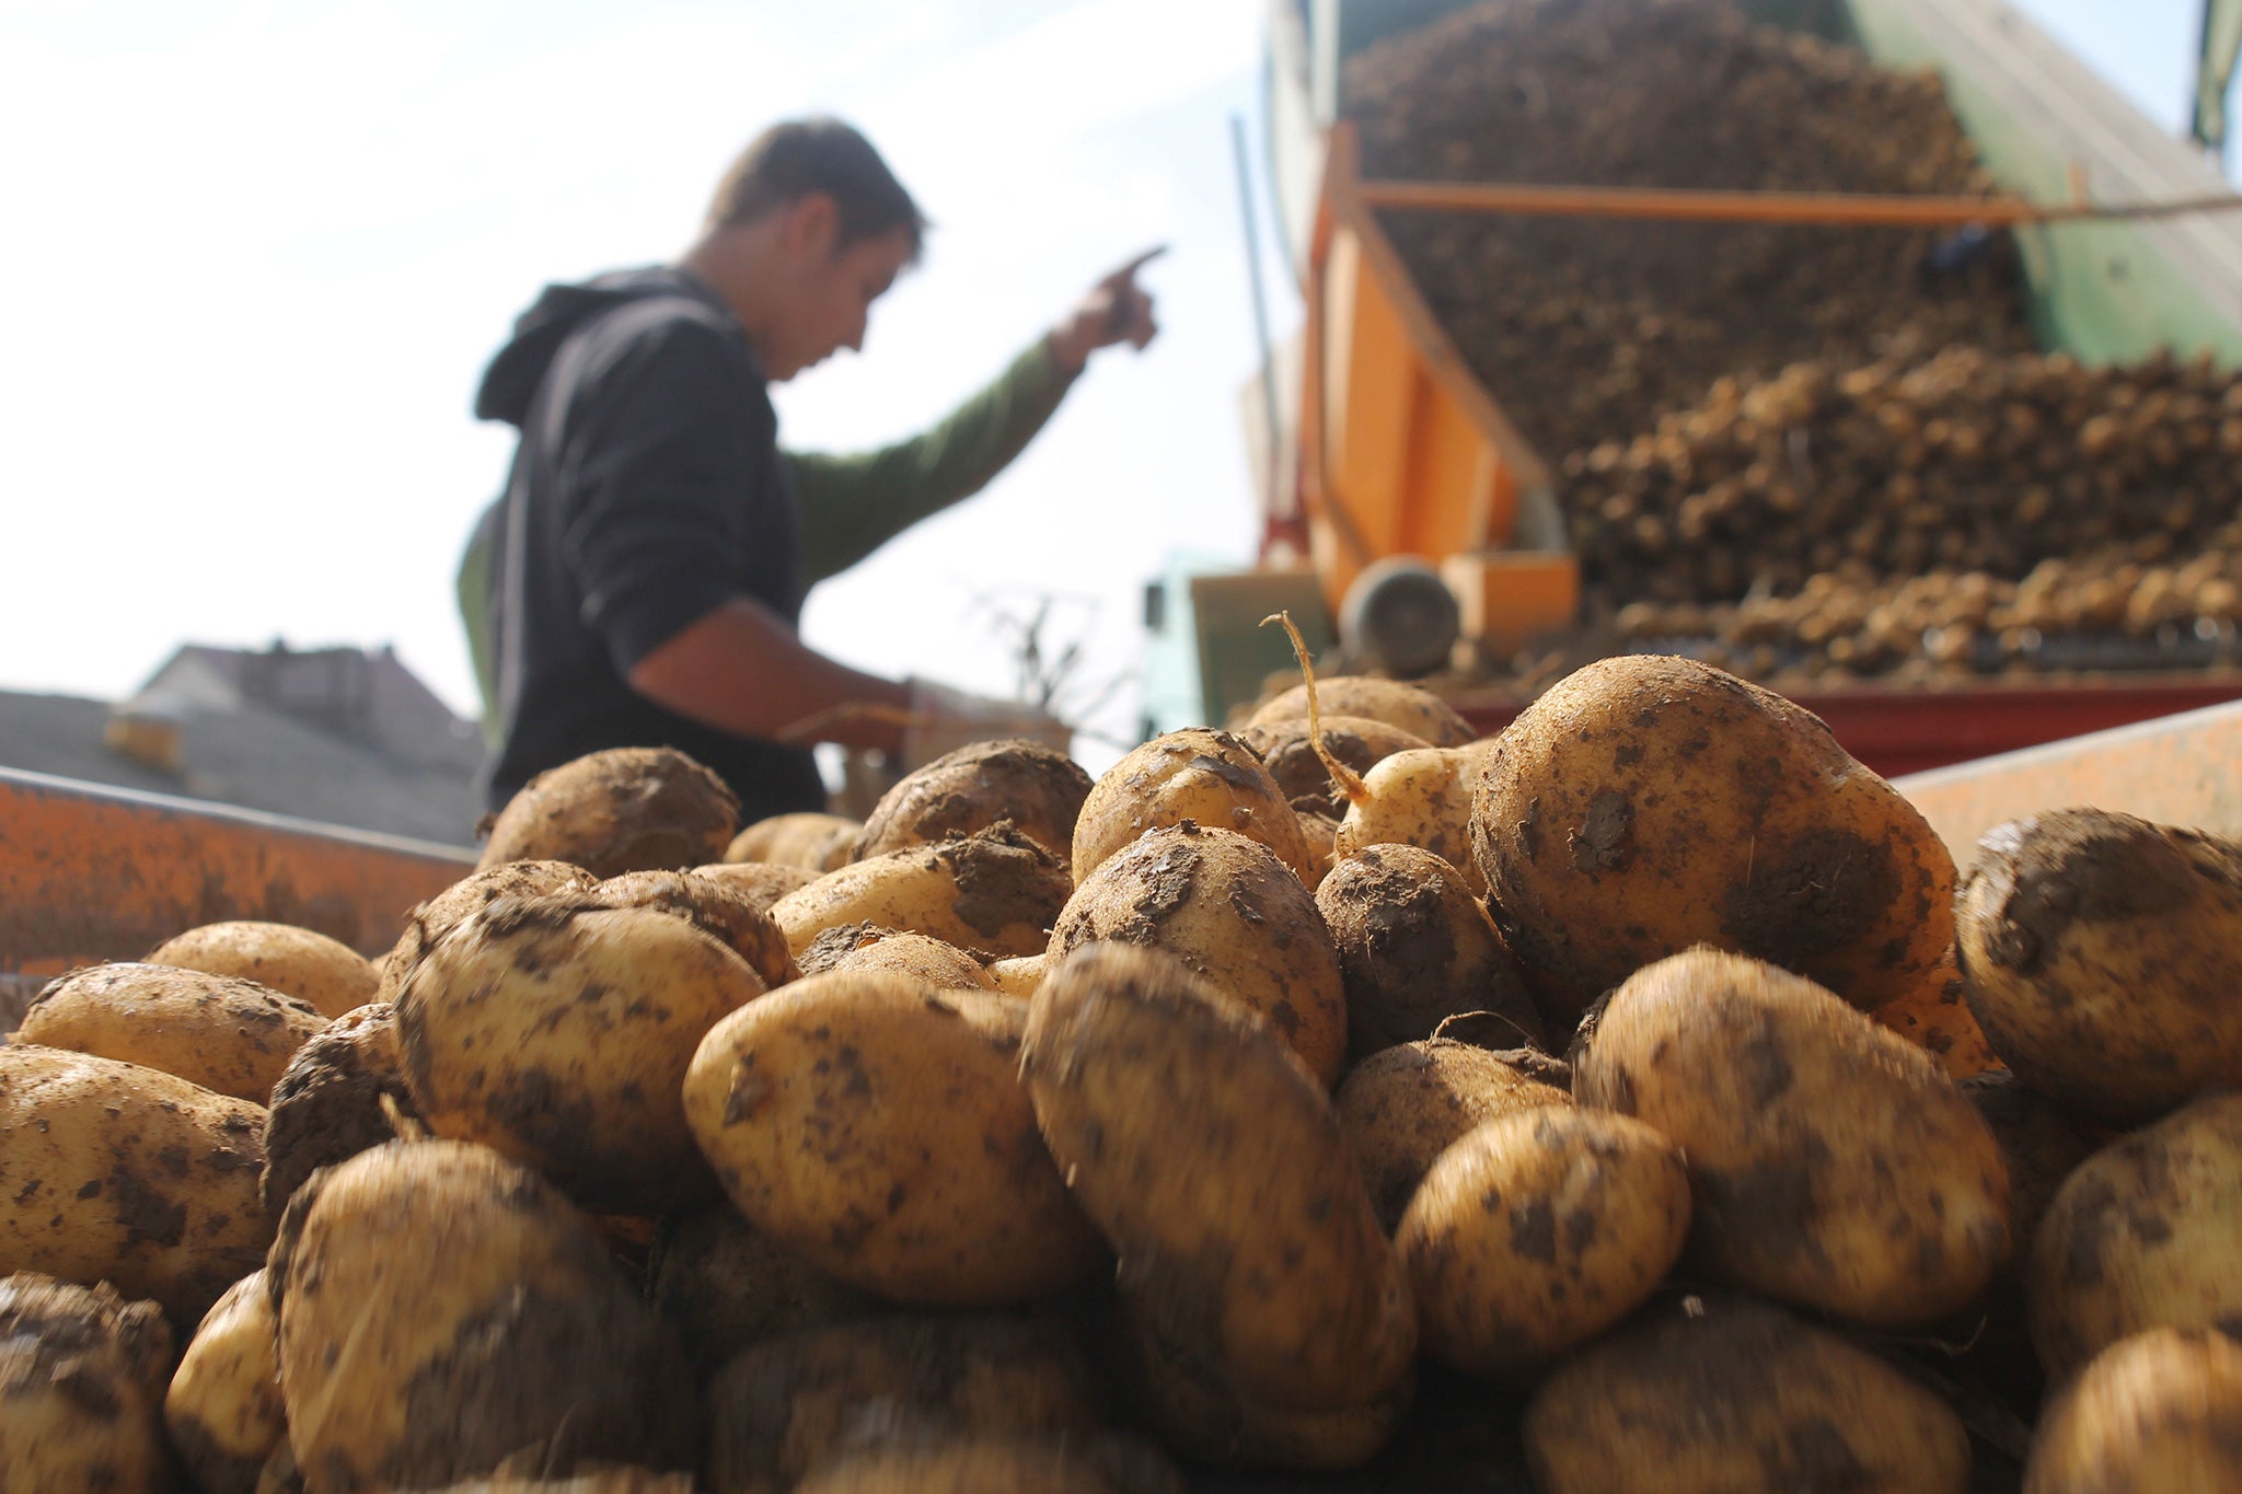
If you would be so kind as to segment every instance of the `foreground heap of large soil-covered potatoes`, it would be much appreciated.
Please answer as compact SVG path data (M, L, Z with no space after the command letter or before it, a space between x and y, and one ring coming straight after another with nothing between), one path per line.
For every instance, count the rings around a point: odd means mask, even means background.
M1686 659L1318 701L861 827L594 755L381 961L56 981L0 1494L2242 1487L2242 847L1957 878Z

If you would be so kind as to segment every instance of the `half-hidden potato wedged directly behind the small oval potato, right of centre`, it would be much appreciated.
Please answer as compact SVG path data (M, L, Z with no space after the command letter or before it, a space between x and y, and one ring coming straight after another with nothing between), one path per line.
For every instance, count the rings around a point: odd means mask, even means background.
M1372 1053L1338 1086L1338 1129L1361 1169L1379 1227L1401 1223L1433 1160L1482 1120L1572 1104L1572 1075L1529 1051L1491 1053L1428 1037Z

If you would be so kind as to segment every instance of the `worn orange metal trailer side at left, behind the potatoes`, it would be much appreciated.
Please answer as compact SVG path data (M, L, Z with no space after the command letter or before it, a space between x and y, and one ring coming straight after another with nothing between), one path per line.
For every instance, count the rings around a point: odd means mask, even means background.
M222 918L383 954L473 851L0 768L0 974L139 959Z

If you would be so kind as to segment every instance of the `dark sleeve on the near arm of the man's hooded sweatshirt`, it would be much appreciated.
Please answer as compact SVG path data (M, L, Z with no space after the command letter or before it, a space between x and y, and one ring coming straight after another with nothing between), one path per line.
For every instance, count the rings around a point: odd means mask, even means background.
M617 672L740 591L778 428L722 334L673 318L585 379L563 446L560 551ZM742 419L747 412L747 419Z

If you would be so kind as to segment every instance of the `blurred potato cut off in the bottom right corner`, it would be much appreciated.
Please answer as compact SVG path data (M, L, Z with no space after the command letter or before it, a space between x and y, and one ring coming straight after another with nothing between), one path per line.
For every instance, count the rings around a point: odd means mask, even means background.
M2047 1407L2025 1494L2242 1490L2242 1344L2150 1328L2103 1348Z

